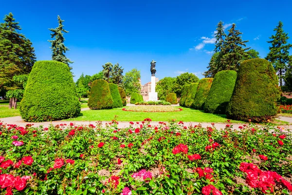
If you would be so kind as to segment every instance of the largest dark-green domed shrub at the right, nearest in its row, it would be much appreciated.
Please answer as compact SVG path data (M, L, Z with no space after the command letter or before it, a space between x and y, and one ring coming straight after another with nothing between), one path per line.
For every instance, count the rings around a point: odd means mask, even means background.
M248 59L239 66L226 115L237 120L265 121L277 114L279 98L278 78L271 62Z

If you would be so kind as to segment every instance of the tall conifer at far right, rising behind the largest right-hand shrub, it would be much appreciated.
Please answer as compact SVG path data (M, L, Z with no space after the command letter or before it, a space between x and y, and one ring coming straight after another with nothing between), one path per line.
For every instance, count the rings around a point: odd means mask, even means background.
M288 33L283 31L283 23L281 21L279 21L279 25L276 26L274 31L276 31L276 34L270 37L272 40L267 41L272 43L272 47L269 47L270 52L265 59L273 64L280 80L280 86L282 86L283 76L289 61L289 49L292 44L288 43Z

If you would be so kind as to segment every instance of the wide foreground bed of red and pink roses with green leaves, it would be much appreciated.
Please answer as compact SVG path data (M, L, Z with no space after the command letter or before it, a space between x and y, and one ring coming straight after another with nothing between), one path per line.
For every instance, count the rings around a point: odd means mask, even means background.
M292 135L265 126L0 123L0 194L289 194Z

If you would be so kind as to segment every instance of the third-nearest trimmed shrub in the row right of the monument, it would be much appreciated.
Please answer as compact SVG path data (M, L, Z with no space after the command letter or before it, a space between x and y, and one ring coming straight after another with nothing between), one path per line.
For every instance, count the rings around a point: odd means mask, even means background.
M212 85L213 78L202 78L199 81L196 96L194 99L193 104L191 105L192 108L197 110L203 110L206 98L208 97L209 90Z

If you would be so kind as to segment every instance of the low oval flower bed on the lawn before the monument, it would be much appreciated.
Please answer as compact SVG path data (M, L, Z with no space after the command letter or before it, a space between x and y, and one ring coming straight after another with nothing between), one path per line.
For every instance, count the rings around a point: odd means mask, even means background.
M131 112L178 112L183 109L176 106L128 106L122 110Z

